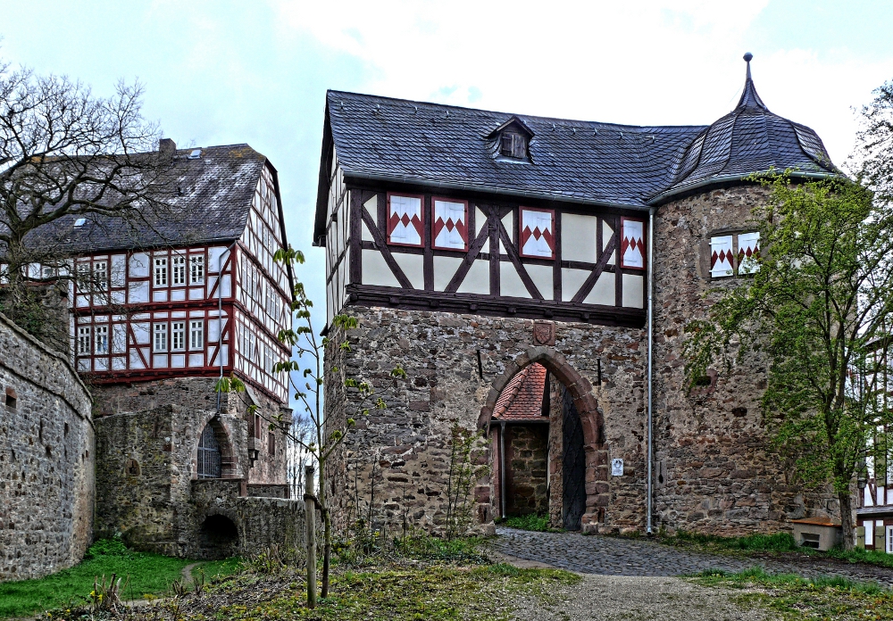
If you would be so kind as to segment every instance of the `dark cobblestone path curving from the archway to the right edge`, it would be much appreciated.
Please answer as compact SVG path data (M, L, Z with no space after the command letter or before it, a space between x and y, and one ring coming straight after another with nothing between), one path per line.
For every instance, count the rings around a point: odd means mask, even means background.
M833 559L742 559L700 552L644 540L621 539L577 533L532 533L513 528L497 528L488 542L491 550L580 574L599 575L685 575L705 569L740 571L762 566L773 574L789 573L809 577L843 575L854 580L893 585L893 569L851 565Z

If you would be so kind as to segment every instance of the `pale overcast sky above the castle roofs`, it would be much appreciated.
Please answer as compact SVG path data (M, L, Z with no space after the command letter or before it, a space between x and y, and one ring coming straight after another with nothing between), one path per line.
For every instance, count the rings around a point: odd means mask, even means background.
M280 171L291 244L324 309L311 228L327 88L580 120L708 124L737 103L754 54L772 112L832 159L852 108L893 79L893 3L0 1L0 56L110 94L146 86L179 145L248 143ZM324 319L324 318L323 318ZM318 329L321 326L318 326Z

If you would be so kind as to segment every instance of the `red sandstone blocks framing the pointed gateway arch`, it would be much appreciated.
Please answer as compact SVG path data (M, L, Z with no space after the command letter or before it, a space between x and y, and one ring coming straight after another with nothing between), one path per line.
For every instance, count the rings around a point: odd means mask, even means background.
M583 428L583 449L586 452L586 513L581 520L584 533L597 531L598 522L605 519L608 504L608 451L605 446L604 419L592 394L592 385L582 377L564 356L553 347L529 347L526 352L505 365L505 372L493 380L484 406L480 409L478 427L488 429L493 409L505 385L522 368L538 362L555 376L572 394L573 404L580 413Z

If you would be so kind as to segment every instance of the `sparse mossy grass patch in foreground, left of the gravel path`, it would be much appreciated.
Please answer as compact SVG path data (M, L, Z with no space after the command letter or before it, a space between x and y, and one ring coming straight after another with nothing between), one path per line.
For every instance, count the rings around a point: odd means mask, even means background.
M330 597L320 600L314 610L305 608L305 593L299 588L253 607L224 606L216 617L227 621L438 621L468 617L498 621L513 618L513 600L518 595L556 603L556 587L579 581L578 575L563 570L505 565L345 571L332 576Z

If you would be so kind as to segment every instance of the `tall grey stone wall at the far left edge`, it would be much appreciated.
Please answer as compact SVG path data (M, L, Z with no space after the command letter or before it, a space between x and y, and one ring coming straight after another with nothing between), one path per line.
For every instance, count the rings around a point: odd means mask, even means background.
M0 389L0 581L37 578L91 541L90 395L62 353L2 315Z

